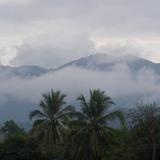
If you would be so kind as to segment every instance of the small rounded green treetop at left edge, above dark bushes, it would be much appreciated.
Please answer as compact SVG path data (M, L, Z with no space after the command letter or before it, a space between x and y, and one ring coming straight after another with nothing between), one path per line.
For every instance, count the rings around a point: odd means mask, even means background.
M12 119L4 123L4 126L0 128L0 133L5 135L5 137L13 135L19 135L19 136L27 135L24 129L20 128Z

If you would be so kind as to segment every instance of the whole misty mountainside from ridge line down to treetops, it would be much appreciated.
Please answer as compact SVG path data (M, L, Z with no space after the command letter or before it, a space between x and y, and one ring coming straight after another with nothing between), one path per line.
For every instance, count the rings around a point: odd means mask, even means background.
M133 55L111 56L97 53L57 68L38 66L0 66L0 122L14 119L28 122L43 93L60 90L68 104L76 105L81 93L104 90L115 107L134 107L135 103L156 101L160 97L160 64Z

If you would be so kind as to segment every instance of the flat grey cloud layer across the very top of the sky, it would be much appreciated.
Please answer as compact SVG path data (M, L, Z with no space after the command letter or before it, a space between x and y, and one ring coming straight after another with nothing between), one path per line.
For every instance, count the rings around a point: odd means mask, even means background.
M159 32L159 7L153 1L43 1L7 3L0 5L0 19L8 22L37 22L51 20L55 23L82 27L90 32L107 35L135 35ZM30 25L30 24L28 24ZM73 29L73 28L72 28ZM76 28L74 28L76 29ZM111 32L111 33L110 33ZM93 33L93 34L95 34Z

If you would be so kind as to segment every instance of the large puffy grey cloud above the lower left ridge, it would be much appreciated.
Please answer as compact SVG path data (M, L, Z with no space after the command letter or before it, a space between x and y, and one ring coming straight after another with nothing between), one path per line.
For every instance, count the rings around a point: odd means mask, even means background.
M25 39L10 63L54 68L94 52L94 43L86 34L45 34Z

